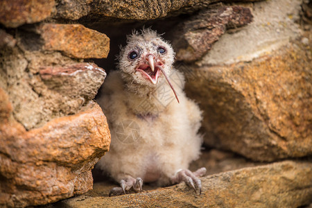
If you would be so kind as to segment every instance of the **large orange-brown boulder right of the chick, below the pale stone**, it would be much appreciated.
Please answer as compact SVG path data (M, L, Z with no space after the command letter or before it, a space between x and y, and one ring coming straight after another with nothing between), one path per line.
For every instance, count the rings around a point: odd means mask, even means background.
M205 144L260 161L312 154L312 41L296 43L250 63L191 67Z

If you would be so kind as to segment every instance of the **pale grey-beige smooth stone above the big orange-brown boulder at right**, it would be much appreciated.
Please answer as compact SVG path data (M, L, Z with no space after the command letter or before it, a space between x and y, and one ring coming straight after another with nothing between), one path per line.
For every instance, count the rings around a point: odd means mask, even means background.
M251 61L288 44L289 40L299 37L301 33L297 24L300 21L301 3L301 0L254 3L251 7L252 22L240 31L225 33L200 62L232 64Z

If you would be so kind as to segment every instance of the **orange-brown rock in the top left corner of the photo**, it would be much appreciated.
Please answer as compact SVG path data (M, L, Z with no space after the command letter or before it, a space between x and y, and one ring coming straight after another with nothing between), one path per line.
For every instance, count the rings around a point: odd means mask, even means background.
M55 1L49 0L1 0L0 23L8 28L32 24L50 17L55 10Z

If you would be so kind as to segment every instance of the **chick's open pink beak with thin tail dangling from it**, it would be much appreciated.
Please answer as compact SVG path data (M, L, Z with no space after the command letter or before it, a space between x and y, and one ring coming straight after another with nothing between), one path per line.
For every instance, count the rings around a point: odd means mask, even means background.
M152 54L146 55L146 60L147 60L147 63L144 62L143 64L140 64L139 67L137 67L137 71L140 71L154 85L157 84L157 81L159 78L159 71L162 71L162 73L164 74L164 77L166 78L168 84L170 85L171 89L173 90L173 93L175 94L175 98L177 98L177 93L175 92L175 89L173 88L173 85L171 84L170 79L166 75L166 72L162 68L164 63L160 62L160 61L155 62L155 56ZM177 103L180 103L179 98L177 98Z

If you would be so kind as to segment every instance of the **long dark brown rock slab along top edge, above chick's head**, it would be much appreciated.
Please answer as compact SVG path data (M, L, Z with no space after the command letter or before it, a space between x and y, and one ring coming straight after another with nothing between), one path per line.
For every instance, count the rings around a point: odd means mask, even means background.
M248 1L248 0L245 0ZM253 0L259 1L259 0ZM185 12L194 12L200 8L206 8L211 3L218 0L209 1L70 1L63 0L57 6L56 17L64 19L107 19L114 17L118 19L156 19L170 15L177 15ZM230 1L229 2L234 2ZM96 16L96 17L94 17Z

